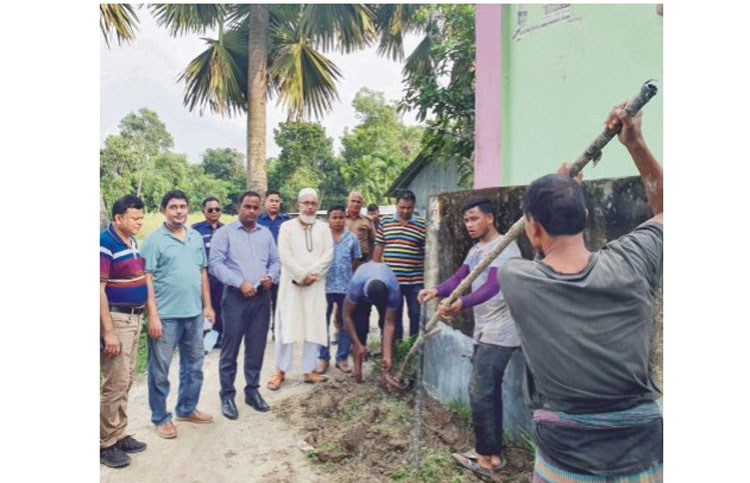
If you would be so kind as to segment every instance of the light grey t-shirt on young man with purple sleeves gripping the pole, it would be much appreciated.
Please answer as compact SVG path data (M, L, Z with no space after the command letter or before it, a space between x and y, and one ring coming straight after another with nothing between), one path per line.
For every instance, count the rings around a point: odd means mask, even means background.
M474 267L482 261L484 256L500 243L502 239L503 237L499 236L481 248L479 244L475 244L466 255L466 261L464 261L464 263L469 266L470 270L473 270ZM500 253L500 255L498 255L492 263L490 263L490 265L474 279L471 283L471 290L476 291L487 282L487 275L489 274L490 268L495 267L499 269L499 267L501 267L506 261L520 256L521 250L519 250L518 244L516 244L516 242L511 242L505 247L502 253ZM521 345L521 339L518 335L516 324L513 322L513 317L510 315L508 304L505 303L502 286L497 295L491 297L484 303L474 306L474 343L478 344L480 342L504 347L518 347Z

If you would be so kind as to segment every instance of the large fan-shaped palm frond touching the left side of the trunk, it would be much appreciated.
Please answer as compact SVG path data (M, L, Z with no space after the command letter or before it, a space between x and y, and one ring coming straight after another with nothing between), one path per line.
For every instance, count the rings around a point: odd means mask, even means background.
M233 115L247 110L247 27L203 39L208 48L193 59L177 81L185 82L184 104L193 111Z

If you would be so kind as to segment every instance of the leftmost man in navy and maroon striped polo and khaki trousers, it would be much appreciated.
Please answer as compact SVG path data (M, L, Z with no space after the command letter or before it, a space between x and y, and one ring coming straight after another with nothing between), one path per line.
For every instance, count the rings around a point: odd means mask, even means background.
M126 453L146 449L145 443L126 433L128 392L148 300L145 262L135 241L143 226L143 202L132 195L120 198L112 206L112 220L99 235L99 460L111 468L121 468L130 464Z

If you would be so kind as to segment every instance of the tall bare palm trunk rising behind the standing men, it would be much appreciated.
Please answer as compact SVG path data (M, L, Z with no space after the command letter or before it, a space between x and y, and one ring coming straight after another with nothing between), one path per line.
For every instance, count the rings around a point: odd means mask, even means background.
M265 193L268 5L250 6L247 67L247 187Z

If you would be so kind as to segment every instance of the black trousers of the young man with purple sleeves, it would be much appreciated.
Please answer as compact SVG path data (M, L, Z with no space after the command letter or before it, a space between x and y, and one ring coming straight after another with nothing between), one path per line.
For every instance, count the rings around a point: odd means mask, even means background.
M503 451L503 374L517 349L482 342L474 345L469 401L475 449L484 456Z

